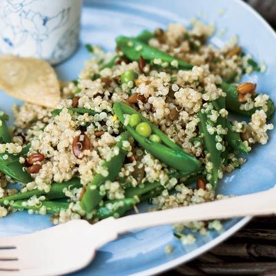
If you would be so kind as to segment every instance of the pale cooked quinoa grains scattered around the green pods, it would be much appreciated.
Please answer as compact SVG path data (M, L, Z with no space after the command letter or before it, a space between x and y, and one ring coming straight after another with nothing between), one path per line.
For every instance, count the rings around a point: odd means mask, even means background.
M43 191L43 195L34 195L23 201L22 209L28 206L29 213L48 213L43 202L48 200L47 195L52 184L78 177L81 186L68 186L63 189L64 197L70 205L67 209L54 213L52 222L59 224L80 218L91 222L99 220L95 216L95 210L83 210L80 199L90 187L95 175L108 177L110 172L104 162L119 155L117 144L124 127L130 125L130 115L124 114L122 124L113 110L114 103L117 102L127 103L135 108L142 117L179 145L179 150L197 159L202 170L189 176L174 177L173 174L177 172L175 168L170 168L168 164L154 157L130 135L128 141L123 141L121 146L126 152L126 159L117 177L103 181L98 187L99 195L103 198L99 206L108 201L106 208L116 211L122 206L120 200L126 199L127 188L144 188L156 181L159 182L159 189L148 194L152 204L150 210L176 208L223 198L215 193L212 183L215 165L211 161L212 153L204 146L204 136L199 127L199 112L208 114L210 124L206 131L213 135L215 148L221 153L217 172L218 178L221 179L225 173L242 166L246 158L225 141L228 129L223 124L216 123L221 118L227 119L230 111L227 107L216 110L214 101L226 97L226 91L221 86L223 81L237 83L244 72L250 73L255 68L250 62L252 57L245 55L237 45L237 37L233 37L221 49L206 43L214 30L214 26L206 26L198 21L193 21L193 28L190 30L180 24L170 24L167 30L156 30L148 45L174 57L175 60L170 63L159 58L150 63L143 60L131 61L121 50L118 50L117 54L105 53L95 46L92 48L92 58L86 62L77 81L65 83L62 87L63 99L57 106L60 109L58 115L53 116L50 108L31 103L14 106L12 141L0 144L0 154L4 160L9 158L7 154L20 155L23 147L30 144L27 155L19 157L19 163L24 170L28 170L28 160L34 156L37 159L33 158L34 162L31 163L32 181L21 184L20 192ZM142 50L142 46L136 50ZM101 70L103 64L115 55L118 55L115 65ZM193 68L178 68L179 59L193 64ZM259 70L265 70L264 64ZM122 83L122 75L126 72L134 72L137 77ZM240 110L250 111L255 108L255 112L252 112L248 121L232 122L233 132L242 137L241 143L248 151L253 144L266 144L267 132L273 129L273 124L268 124L266 114L269 96L253 97L253 93L254 91L244 95ZM137 99L130 102L130 98L136 96ZM73 112L70 108L86 108L92 110L93 115L88 112ZM79 137L78 143L82 143L82 146L86 137L89 140L89 147L81 148L77 156L74 153L76 137ZM192 188L194 186L190 186L190 176L194 177L195 181L202 177L201 186L198 181L197 188ZM0 199L17 193L17 190L7 188L9 182L12 182L12 179L0 172ZM138 202L142 197L134 198ZM0 217L14 210L9 203L6 201L1 204ZM113 215L118 217L120 214L115 212ZM185 228L206 235L208 229L220 231L222 224L219 221L195 221L175 226L181 242L191 244L195 237L193 233L184 235ZM166 249L168 252L171 250L172 248Z

